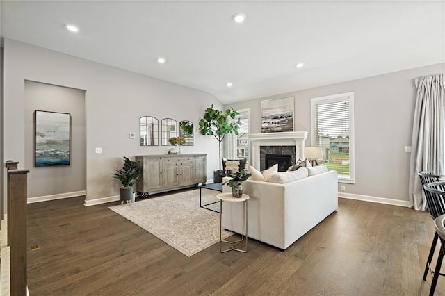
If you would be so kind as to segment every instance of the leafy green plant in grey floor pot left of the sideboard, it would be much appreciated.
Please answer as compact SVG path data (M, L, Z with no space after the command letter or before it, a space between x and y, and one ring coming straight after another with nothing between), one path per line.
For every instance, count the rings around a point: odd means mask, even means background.
M118 179L122 184L122 188L120 188L121 204L126 201L134 202L133 185L139 179L139 176L140 164L124 156L124 166L113 174L113 178Z

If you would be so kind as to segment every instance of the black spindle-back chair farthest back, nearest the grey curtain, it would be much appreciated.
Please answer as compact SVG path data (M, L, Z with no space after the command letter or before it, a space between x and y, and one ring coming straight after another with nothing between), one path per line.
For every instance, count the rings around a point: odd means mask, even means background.
M432 171L423 171L419 172L419 178L422 183L423 192L425 193L426 197L426 204L428 204L428 211L430 211L430 216L432 220L435 220L439 215L445 214L441 213L437 210L437 206L435 206L435 202L433 201L430 192L425 189L424 186L429 183L434 183L439 181L439 175L433 174ZM435 233L434 238L432 238L432 244L430 247L430 254L428 255L428 260L426 261L425 266L425 272L423 272L423 281L426 281L426 276L428 275L428 270L432 270L431 268L431 262L432 262L432 256L434 255L436 245L437 245L437 239L439 236L437 236L437 233Z

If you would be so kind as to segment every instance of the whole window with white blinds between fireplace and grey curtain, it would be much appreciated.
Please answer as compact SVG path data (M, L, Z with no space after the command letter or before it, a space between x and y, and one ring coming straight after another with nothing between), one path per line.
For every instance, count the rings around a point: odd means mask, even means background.
M323 163L339 181L354 182L354 93L311 99L312 145L321 146Z

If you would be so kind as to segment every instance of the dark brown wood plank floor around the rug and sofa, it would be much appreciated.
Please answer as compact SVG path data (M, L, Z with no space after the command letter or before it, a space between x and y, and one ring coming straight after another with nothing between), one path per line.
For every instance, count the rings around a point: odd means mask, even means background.
M162 197L156 197L162 198ZM337 212L282 252L250 241L191 258L83 197L29 204L35 295L428 295L428 213L339 199ZM31 246L39 248L31 251ZM437 258L437 257L436 257ZM445 295L439 278L437 295Z

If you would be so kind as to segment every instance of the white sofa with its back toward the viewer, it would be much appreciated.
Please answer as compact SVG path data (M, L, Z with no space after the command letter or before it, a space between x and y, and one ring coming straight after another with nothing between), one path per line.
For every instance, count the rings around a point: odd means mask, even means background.
M298 171L303 169L307 170ZM309 176L306 173L306 177L288 183L243 182L243 192L250 196L249 238L286 249L338 208L337 172L311 175L310 170ZM223 186L224 192L231 190ZM241 209L241 203L223 203L225 229L241 233Z

